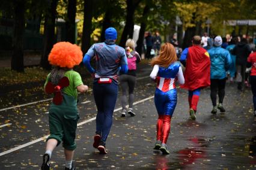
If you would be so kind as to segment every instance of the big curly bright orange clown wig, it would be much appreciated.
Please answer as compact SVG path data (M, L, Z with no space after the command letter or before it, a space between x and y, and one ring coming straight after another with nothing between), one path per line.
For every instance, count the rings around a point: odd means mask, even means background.
M78 45L70 42L57 42L50 51L48 60L51 65L73 68L82 62L83 53Z

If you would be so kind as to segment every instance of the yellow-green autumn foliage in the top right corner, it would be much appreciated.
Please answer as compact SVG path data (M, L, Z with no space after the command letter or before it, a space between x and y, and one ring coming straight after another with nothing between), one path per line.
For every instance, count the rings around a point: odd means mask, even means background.
M210 25L213 34L231 33L233 28L225 26L227 20L256 19L256 4L253 0L215 0L215 1L176 1L174 2L178 15L183 22L183 29L194 27L200 22L201 28L206 27L206 20L212 20Z

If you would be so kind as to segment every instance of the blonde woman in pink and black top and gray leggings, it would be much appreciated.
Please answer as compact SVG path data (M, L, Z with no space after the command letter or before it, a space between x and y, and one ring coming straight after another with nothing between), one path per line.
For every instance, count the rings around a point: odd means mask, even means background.
M126 57L128 62L128 72L127 74L120 75L120 86L123 92L123 95L121 96L121 105L123 107L121 117L126 117L127 89L129 89L128 114L130 114L130 116L135 116L135 113L133 112L133 90L136 82L136 63L141 61L141 57L139 56L139 53L135 51L135 42L132 39L126 41Z

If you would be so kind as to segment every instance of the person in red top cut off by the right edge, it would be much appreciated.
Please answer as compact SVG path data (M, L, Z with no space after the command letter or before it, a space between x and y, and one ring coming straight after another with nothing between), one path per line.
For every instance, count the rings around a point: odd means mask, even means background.
M251 67L251 87L254 102L254 116L256 116L256 51L251 53L247 59L247 67Z

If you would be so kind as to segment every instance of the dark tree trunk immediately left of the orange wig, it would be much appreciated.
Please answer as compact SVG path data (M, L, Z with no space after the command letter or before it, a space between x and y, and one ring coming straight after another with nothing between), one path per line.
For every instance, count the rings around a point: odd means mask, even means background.
M48 55L52 50L53 44L56 41L55 38L55 20L56 20L56 7L58 0L50 1L50 7L47 9L44 19L44 47L43 54L41 56L40 65L44 69L50 69L50 63L48 62Z

